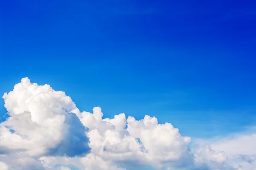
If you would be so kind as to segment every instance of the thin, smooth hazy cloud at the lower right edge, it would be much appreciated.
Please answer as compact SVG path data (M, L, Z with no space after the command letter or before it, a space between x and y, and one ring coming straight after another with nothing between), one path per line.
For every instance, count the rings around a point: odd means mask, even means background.
M227 163L239 170L256 170L256 128L245 132L218 136L212 139L200 139L197 143L211 145L213 150L222 151Z

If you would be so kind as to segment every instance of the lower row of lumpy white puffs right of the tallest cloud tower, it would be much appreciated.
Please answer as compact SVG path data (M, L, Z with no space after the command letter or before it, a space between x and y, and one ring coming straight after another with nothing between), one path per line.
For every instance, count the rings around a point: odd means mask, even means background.
M91 151L108 161L115 161L125 167L130 164L154 167L183 166L193 162L189 151L189 137L183 137L171 124L158 124L155 117L145 116L142 120L121 113L113 119L102 119L101 108L93 113L73 111L84 126L90 130ZM127 127L127 128L126 128Z

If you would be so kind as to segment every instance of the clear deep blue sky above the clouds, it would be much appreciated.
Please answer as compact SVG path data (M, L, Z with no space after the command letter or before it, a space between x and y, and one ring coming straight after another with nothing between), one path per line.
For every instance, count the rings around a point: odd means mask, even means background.
M1 95L29 77L80 110L148 114L192 137L255 125L256 1L6 0L1 8Z

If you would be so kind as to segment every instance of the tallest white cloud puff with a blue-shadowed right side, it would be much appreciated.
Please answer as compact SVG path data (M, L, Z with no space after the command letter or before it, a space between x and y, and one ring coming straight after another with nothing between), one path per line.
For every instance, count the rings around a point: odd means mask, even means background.
M23 78L3 99L10 117L1 123L0 147L7 153L75 156L71 150L90 151L85 127L70 113L76 105L64 92Z

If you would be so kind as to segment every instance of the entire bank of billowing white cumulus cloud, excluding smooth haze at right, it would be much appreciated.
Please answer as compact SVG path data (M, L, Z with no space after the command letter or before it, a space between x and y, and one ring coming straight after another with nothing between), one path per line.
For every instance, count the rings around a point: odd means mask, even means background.
M64 92L28 78L3 99L9 118L0 124L1 170L237 169L209 145L190 148L170 123L124 113L102 119L101 108L81 112Z

